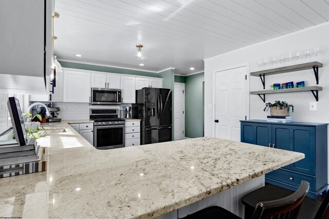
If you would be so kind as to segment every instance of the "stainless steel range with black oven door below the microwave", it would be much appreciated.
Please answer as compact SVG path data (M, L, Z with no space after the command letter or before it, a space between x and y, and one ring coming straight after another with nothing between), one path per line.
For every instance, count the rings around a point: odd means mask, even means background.
M90 109L90 120L94 120L95 148L124 147L124 118L118 118L117 109Z

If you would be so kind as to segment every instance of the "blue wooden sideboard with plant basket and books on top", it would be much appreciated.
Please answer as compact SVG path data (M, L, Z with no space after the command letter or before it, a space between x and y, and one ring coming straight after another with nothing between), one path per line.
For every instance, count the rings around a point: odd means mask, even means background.
M265 175L265 182L297 190L301 181L309 182L307 196L317 198L327 190L326 123L270 123L264 120L241 122L241 142L296 151L305 158Z

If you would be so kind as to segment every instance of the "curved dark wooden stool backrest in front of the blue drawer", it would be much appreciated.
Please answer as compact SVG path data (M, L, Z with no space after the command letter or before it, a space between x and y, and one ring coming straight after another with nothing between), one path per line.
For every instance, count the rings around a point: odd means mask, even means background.
M252 219L295 219L297 218L300 206L308 192L309 183L302 181L299 189L291 195L278 200L260 202L257 204Z

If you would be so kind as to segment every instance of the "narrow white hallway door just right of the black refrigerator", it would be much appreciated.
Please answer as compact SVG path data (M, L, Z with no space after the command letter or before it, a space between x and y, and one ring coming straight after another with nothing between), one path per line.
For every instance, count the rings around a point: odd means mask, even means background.
M185 132L185 84L175 83L174 93L174 140L184 139Z

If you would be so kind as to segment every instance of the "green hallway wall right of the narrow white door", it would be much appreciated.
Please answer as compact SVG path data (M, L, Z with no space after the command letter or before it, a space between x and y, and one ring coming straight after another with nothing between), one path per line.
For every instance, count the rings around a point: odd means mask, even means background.
M205 73L185 77L185 136L202 137L204 129L204 94Z

